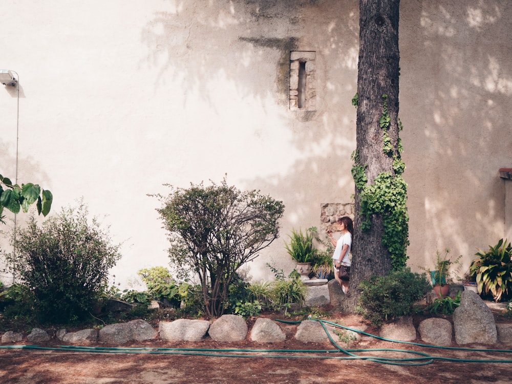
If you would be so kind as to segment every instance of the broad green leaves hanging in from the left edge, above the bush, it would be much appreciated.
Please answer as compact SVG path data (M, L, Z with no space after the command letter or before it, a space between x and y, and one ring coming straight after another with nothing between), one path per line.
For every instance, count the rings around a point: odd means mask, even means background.
M4 208L14 214L23 209L27 213L30 205L36 203L37 213L47 216L52 207L53 195L48 189L41 189L37 184L27 183L19 186L0 175L0 223L4 223L2 212Z

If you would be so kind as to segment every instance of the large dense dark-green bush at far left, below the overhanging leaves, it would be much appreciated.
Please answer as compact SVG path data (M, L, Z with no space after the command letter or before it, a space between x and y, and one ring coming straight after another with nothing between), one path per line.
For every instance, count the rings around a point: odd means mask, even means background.
M100 295L104 280L121 255L118 245L96 220L87 219L87 208L62 209L39 226L32 217L17 233L17 257L7 264L35 296L41 321L70 322L83 318Z

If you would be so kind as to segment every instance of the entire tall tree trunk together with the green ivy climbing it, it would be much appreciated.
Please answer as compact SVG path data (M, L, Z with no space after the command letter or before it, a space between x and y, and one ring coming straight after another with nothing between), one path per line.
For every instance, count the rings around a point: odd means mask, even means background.
M359 295L357 286L362 280L371 275L383 276L405 260L404 254L396 254L393 244L390 247L391 223L387 222L388 210L393 211L395 203L401 205L400 201L387 201L390 195L393 200L393 195L398 193L400 200L405 199L406 193L405 183L399 176L404 167L398 135L398 20L399 0L359 1L359 64L354 100L357 101L357 148L352 170L356 215L346 309L355 306ZM405 230L407 243L407 212L398 212L396 216L404 221L398 224L402 226L398 241L403 242ZM400 238L399 233L393 236Z

